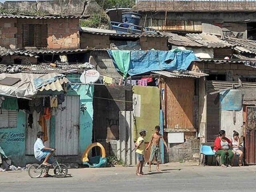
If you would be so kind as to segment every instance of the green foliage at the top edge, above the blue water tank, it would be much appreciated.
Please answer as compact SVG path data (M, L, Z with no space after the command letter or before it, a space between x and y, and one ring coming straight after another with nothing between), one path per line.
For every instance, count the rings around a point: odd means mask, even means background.
M96 2L104 9L113 8L132 8L135 0L96 0Z

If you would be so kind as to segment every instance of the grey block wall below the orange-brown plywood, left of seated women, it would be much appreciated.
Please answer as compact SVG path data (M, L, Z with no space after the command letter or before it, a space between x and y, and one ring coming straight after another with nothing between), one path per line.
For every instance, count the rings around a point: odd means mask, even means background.
M198 161L199 140L186 139L181 144L169 144L169 162Z

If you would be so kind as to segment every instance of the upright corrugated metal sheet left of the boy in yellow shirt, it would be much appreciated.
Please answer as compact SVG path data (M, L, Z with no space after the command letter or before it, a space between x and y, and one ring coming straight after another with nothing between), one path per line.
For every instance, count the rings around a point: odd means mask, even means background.
M132 138L133 114L132 111L119 113L119 140L117 141L117 155L127 165L135 165L135 145Z

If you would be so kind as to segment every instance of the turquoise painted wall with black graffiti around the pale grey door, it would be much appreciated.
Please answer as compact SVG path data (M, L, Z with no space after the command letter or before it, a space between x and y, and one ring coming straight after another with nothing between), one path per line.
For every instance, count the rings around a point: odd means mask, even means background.
M80 163L82 154L86 147L92 143L93 122L93 85L71 84L67 87L67 95L80 96L80 132L79 132L79 154L78 156L60 157L61 162ZM25 166L27 163L36 162L34 156L25 156L26 148L26 113L18 112L16 128L0 128L0 146L6 155L12 158L16 166ZM50 146L54 148L55 117L51 118Z

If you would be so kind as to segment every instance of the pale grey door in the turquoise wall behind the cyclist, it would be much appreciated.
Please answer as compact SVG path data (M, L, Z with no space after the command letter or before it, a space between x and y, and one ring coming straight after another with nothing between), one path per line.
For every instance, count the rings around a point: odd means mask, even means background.
M55 118L55 148L58 155L78 155L79 96L65 96Z

